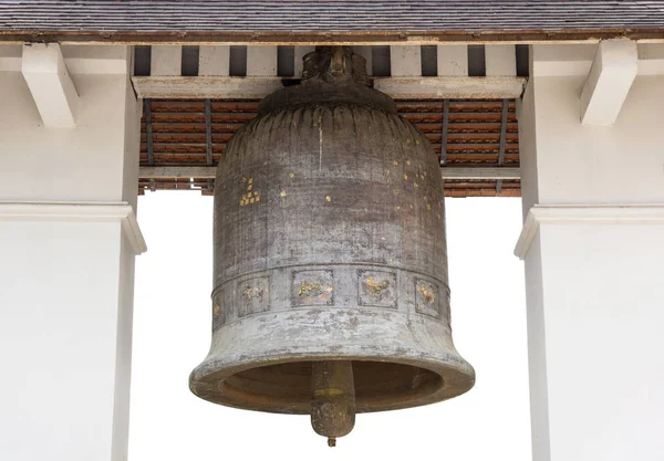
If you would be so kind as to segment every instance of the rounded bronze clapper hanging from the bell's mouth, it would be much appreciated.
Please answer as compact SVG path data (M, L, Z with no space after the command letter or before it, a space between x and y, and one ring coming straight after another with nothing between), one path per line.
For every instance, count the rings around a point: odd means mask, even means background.
M311 426L336 447L355 426L355 386L350 360L314 362L311 369Z

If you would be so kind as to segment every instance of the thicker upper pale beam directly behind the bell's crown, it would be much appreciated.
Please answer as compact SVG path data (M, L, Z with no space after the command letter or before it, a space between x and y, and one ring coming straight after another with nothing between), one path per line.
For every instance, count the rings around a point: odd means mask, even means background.
M230 76L134 76L134 88L139 97L152 98L262 98L283 87L281 77ZM443 98L515 98L520 97L525 77L380 77L374 87L395 99Z

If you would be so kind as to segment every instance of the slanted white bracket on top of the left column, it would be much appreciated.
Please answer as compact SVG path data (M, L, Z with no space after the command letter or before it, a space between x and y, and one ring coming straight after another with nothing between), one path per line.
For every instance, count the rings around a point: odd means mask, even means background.
M23 45L21 72L45 126L72 128L79 94L58 43Z

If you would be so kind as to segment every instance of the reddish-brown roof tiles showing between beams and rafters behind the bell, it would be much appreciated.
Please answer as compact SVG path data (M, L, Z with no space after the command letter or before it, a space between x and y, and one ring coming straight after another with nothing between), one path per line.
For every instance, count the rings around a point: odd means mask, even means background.
M439 157L443 139L444 101L397 101L400 114L411 121L432 143ZM497 167L500 155L502 101L449 99L446 129L446 165L449 167ZM156 166L208 165L205 99L149 102L153 154ZM219 161L231 136L256 116L257 101L210 101L212 165ZM516 103L507 104L505 167L519 166L519 136ZM142 121L141 165L147 158L147 124ZM209 153L208 153L209 154ZM211 180L175 178L139 180L141 190L199 190L211 195ZM520 181L504 180L497 191L495 180L446 179L449 197L518 197Z

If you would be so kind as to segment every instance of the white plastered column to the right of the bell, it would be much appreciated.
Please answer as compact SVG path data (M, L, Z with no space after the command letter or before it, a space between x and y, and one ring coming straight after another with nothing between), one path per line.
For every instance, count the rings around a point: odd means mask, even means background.
M531 46L519 114L535 461L664 459L664 80L583 126L594 55Z

